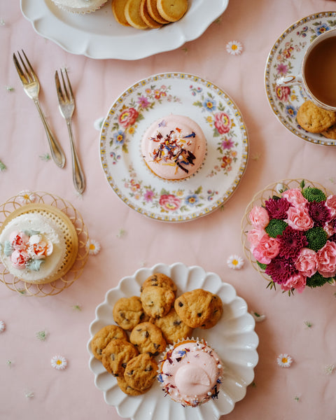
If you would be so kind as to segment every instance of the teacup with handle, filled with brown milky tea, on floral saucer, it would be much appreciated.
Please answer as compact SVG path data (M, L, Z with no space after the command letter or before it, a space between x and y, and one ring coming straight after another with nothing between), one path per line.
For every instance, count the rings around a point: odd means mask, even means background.
M282 76L276 85L302 85L311 102L336 111L336 29L317 36L304 53L300 73Z

